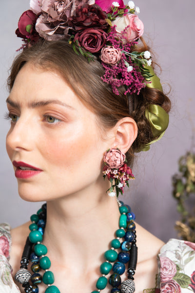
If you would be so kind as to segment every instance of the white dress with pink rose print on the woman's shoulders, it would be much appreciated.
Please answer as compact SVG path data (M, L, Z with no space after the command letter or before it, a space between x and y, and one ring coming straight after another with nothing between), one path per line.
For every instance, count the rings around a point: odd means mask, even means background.
M20 293L9 264L10 226L0 224L0 293ZM195 293L195 243L171 239L157 256L156 289L143 293Z

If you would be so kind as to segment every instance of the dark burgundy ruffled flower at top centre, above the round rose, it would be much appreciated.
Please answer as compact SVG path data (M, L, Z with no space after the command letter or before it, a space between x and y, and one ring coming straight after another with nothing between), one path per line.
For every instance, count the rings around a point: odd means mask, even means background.
M89 27L100 27L101 29L106 29L108 26L106 18L107 14L102 11L98 5L84 4L75 10L68 23L69 26L73 27L76 31Z

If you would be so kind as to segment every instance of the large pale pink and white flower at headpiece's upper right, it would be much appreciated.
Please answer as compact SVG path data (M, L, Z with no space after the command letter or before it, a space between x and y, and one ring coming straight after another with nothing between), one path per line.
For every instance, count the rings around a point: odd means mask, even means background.
M116 31L120 36L122 36L121 32L128 27L123 36L126 42L135 41L143 35L143 22L135 14L127 13L122 17L117 17L115 21L112 21L112 25L117 26Z

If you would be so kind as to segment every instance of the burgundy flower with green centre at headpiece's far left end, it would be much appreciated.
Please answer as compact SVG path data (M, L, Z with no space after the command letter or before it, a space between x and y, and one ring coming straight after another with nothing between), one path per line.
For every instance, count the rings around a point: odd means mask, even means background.
M36 20L37 15L32 10L24 11L18 22L17 37L37 42L39 35L35 30Z

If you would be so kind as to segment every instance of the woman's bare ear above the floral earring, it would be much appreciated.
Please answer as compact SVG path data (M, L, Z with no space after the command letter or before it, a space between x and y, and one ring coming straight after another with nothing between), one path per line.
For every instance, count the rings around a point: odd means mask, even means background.
M113 128L114 142L112 147L118 147L126 153L137 138L137 124L133 118L124 117L120 119Z

